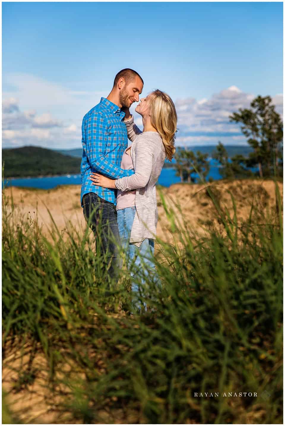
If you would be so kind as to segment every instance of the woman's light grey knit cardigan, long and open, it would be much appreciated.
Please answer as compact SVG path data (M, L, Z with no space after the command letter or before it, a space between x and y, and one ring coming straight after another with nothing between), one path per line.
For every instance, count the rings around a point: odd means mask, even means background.
M164 144L157 132L141 132L134 124L134 118L125 121L128 138L132 141L130 154L135 174L115 180L115 187L121 191L135 191L135 218L130 243L137 247L146 238L155 239L158 211L155 183L166 158Z

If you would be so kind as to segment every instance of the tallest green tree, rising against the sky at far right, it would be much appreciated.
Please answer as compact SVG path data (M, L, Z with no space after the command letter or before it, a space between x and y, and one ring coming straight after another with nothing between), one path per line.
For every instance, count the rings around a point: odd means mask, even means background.
M270 96L257 96L250 103L251 109L239 109L229 116L230 121L241 124L242 133L253 147L246 160L247 167L259 168L259 176L271 176L279 169L282 160L283 122L271 104Z

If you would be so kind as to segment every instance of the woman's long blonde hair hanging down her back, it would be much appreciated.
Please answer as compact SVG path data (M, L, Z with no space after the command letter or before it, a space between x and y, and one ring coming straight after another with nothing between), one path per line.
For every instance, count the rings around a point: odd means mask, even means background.
M172 99L161 90L154 90L149 95L150 123L161 135L166 158L171 161L175 153L174 141L177 131L177 114Z

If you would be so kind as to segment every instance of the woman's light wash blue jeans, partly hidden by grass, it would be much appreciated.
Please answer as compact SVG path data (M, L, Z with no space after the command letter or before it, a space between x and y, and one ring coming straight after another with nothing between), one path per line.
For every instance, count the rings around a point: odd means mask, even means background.
M155 263L152 261L154 253L154 240L144 239L141 247L130 244L130 234L132 223L135 218L135 207L126 207L117 210L117 221L121 245L126 253L127 268L130 275L135 279L136 274L140 276L141 285L144 285L145 279L150 278L152 282L160 285L160 279L155 269ZM132 280L132 291L140 294L139 285ZM138 304L135 304L138 307ZM144 308L146 304L144 303Z

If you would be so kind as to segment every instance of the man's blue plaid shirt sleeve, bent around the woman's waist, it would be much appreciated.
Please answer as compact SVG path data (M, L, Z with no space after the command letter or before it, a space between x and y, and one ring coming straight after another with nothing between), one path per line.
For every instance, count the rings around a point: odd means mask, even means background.
M85 126L86 154L92 172L102 173L109 178L132 176L134 170L124 170L116 166L105 155L107 140L107 123L101 112L95 112L86 118ZM83 133L83 130L82 130Z

